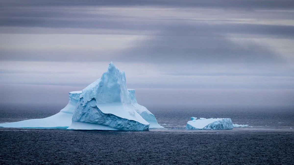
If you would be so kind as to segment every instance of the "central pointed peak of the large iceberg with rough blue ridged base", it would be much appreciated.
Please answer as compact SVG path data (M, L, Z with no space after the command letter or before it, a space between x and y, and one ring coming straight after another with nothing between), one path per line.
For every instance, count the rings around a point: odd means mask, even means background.
M100 79L82 90L68 129L148 130L131 103L126 76L111 62Z

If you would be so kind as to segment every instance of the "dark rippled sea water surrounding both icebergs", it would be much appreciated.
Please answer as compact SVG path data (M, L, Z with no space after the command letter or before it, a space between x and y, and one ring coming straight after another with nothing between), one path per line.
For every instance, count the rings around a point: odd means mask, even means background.
M0 122L44 118L64 105L0 105ZM0 128L0 164L294 164L294 108L146 106L167 129L143 132ZM251 127L185 130L190 117Z

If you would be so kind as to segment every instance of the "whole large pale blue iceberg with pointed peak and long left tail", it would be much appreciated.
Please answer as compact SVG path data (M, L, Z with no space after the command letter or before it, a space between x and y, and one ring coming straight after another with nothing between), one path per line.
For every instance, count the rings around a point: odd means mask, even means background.
M0 127L98 130L148 130L163 128L154 115L137 103L135 90L111 62L102 77L82 91L69 92L69 103L44 119L1 123Z

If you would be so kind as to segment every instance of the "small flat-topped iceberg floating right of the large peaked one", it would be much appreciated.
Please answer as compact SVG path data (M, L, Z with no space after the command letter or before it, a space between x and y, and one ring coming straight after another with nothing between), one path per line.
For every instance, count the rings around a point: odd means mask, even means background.
M191 117L187 122L186 129L233 129L233 123L230 118L200 118Z

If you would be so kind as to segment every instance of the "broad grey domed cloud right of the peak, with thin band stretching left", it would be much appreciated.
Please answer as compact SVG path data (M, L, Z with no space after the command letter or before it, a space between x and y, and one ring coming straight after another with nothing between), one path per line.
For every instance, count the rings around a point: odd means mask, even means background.
M174 23L174 22L172 22ZM241 29L235 26L235 29ZM257 27L260 33L272 31ZM225 26L209 24L170 24L168 27L158 27L158 33L152 39L137 41L133 48L122 52L101 52L97 50L0 50L1 60L20 61L124 61L151 63L281 63L279 55L268 47L254 42L243 45L226 38ZM245 28L243 28L245 30ZM248 28L248 31L252 29ZM294 29L294 28L293 28ZM290 33L294 30L285 27ZM232 27L228 27L228 31ZM277 32L278 33L278 32ZM292 35L293 35L292 34ZM285 34L286 35L286 34ZM290 35L288 35L290 36Z

